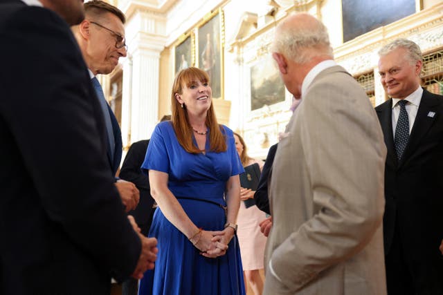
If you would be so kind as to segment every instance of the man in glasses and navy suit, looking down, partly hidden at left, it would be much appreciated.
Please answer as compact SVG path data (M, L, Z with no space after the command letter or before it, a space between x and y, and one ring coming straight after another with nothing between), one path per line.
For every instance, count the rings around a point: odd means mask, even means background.
M73 27L73 33L88 66L91 82L96 90L105 119L107 157L114 176L122 157L121 131L96 75L111 73L117 66L118 59L127 54L123 26L125 15L115 6L100 0L84 3L84 12L85 19L78 26ZM136 186L132 182L118 179L115 184L126 211L135 209L140 199Z

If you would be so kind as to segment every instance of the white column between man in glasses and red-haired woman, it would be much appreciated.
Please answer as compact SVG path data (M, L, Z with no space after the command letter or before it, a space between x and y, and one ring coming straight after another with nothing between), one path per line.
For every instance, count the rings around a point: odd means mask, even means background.
M124 5L123 5L124 4ZM128 58L123 64L123 146L150 138L159 120L159 64L165 17L140 3L122 3Z

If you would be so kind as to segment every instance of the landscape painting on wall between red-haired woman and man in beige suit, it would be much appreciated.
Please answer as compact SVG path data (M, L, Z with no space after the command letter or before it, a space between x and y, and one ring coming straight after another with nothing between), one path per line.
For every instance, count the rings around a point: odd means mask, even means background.
M251 111L284 102L284 84L271 55L251 66Z

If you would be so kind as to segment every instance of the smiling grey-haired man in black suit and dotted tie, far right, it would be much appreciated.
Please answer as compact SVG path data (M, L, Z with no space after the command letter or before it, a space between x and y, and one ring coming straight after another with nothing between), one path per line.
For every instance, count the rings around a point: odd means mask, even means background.
M388 148L388 294L443 294L443 96L420 86L422 53L413 41L392 41L379 55L381 84L390 97L375 108Z

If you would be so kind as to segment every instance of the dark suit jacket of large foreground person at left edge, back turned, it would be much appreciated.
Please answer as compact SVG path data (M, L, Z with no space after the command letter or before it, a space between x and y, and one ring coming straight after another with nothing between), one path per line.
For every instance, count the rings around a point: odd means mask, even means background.
M0 4L0 294L109 294L141 242L87 67L55 12Z

